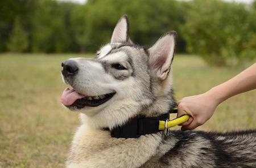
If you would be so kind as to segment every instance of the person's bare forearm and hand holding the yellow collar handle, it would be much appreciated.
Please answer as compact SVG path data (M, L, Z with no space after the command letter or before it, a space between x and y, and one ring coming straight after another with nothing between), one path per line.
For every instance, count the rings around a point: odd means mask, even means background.
M193 130L212 117L221 102L237 94L256 89L256 63L232 79L213 87L208 92L185 97L177 102L177 117L189 114L187 122L181 124L181 130Z

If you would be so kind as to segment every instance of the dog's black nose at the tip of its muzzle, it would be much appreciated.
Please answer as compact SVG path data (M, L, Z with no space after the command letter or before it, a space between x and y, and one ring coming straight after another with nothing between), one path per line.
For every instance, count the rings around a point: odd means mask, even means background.
M75 61L73 61L72 59L68 59L68 60L64 61L63 63L61 63L61 66L63 67L61 70L61 73L65 77L73 76L79 71L77 63Z

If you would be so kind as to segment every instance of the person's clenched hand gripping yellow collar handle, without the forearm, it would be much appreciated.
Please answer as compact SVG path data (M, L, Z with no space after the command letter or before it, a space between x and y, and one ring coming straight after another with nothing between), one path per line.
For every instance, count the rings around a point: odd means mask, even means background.
M177 117L190 115L187 122L180 124L181 131L193 130L204 124L212 117L217 106L218 103L207 92L181 99L177 102Z

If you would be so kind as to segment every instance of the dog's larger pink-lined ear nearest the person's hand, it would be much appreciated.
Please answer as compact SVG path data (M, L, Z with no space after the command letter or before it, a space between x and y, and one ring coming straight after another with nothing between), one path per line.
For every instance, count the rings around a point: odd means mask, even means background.
M172 59L176 47L176 32L168 32L150 48L148 65L150 72L155 77L164 80L168 76L171 69Z

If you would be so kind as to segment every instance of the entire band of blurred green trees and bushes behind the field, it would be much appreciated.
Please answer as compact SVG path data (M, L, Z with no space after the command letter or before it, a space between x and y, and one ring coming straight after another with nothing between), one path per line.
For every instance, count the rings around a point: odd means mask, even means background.
M24 41L28 43L20 52L94 53L110 41L117 20L127 14L135 44L149 46L163 33L176 31L178 53L199 54L217 66L236 64L255 57L255 4L224 0L88 0L81 5L57 0L3 0L0 52L15 48L11 46L13 37L18 37L17 33L14 36L15 18L20 18L19 32L26 34Z

